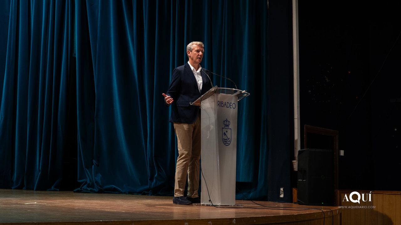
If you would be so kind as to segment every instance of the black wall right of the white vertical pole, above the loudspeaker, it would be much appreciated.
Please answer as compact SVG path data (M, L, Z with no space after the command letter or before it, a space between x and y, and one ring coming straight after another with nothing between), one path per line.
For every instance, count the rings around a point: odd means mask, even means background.
M299 2L301 124L339 131L340 189L401 190L399 8Z

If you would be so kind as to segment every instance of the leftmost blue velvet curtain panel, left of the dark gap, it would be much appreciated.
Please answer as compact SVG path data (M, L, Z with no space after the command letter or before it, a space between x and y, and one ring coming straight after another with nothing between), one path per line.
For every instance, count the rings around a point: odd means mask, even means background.
M27 0L0 8L0 188L57 190L73 8Z

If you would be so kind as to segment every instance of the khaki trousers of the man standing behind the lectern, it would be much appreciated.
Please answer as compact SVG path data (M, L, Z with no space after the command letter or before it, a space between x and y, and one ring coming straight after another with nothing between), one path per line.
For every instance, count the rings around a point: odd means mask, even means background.
M174 197L184 196L188 175L188 197L198 197L199 159L201 159L201 115L193 124L174 123L177 136L178 158Z

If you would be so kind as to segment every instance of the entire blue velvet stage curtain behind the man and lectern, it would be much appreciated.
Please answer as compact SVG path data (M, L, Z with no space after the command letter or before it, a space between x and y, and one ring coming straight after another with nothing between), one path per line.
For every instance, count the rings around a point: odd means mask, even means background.
M289 5L269 4L2 2L10 10L1 8L0 25L8 31L0 34L7 40L0 43L7 49L0 52L5 71L4 78L0 75L1 187L38 190L59 184L75 20L81 183L75 191L172 195L178 153L162 93L172 70L188 61L186 45L202 41L201 65L251 93L238 104L237 198L244 193L251 199L290 201L289 194L278 199L276 193L278 187L290 191ZM219 76L212 80L235 88Z

